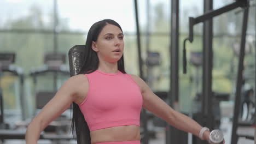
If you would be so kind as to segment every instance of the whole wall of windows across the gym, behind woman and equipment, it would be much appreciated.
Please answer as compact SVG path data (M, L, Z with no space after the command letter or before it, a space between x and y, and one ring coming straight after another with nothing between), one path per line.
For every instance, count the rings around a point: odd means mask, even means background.
M148 3L149 2L149 3ZM213 9L223 7L233 1L214 1ZM57 4L56 7L55 3ZM101 4L98 4L101 3ZM188 63L188 74L182 73L183 40L188 37L188 17L203 14L203 1L179 2L179 102L183 112L191 112L192 101L197 92L201 92L201 67ZM91 25L99 20L113 19L125 33L125 65L130 74L139 75L136 19L134 1L67 1L67 0L3 0L0 1L0 52L15 52L15 66L23 69L25 75L25 95L27 117L32 115L34 105L33 81L30 71L41 67L45 52L67 53L74 45L84 45ZM143 70L153 91L168 91L170 88L170 14L171 1L138 1L139 28L141 30L142 59L146 61L147 51L159 52L161 65ZM55 11L56 10L56 11ZM235 9L213 19L213 91L234 91L238 59L232 50L233 43L240 42L242 12ZM56 12L56 13L55 13ZM54 31L55 30L55 31ZM251 8L248 21L248 43L255 46L255 9ZM254 42L253 42L254 41ZM252 45L253 46L253 45ZM202 52L202 23L194 26L194 41L187 43L188 59L190 52ZM255 48L255 47L254 47ZM252 64L255 51L246 55L246 63ZM232 64L234 64L232 66ZM232 66L232 67L231 67ZM253 70L245 70L252 75ZM232 69L234 69L232 71ZM59 77L58 87L68 77ZM199 79L199 81L197 81ZM42 78L50 89L52 77ZM148 81L147 80L147 81ZM4 93L4 109L20 109L20 83L15 76L1 77ZM43 83L43 82L42 82ZM253 83L252 81L250 83ZM42 84L44 85L44 84ZM31 106L30 106L31 105Z

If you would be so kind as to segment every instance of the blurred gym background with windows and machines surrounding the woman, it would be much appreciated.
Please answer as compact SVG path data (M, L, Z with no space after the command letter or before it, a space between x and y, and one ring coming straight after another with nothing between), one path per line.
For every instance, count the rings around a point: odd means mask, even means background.
M236 1L211 2L212 9L216 10ZM237 122L237 125L242 125L243 129L242 136L238 136L238 143L254 143L256 1L248 2L240 112ZM177 111L196 119L196 115L193 114L202 109L200 100L203 87L203 23L194 26L194 41L186 45L187 74L183 74L183 40L189 35L189 17L205 14L204 4L207 3L207 0L1 0L0 129L26 130L31 118L69 78L69 49L74 45L84 45L91 25L103 19L113 19L123 28L127 73L143 75L150 88L166 103L169 103L168 95L173 79L170 78L173 52L170 50L172 27L178 28L178 65L176 65L179 77L178 94L172 95L177 97L172 105ZM178 19L171 15L174 14L173 4L178 5L176 8L179 13ZM216 95L212 106L213 123L214 128L223 130L226 143L231 143L232 127L234 127L232 122L234 122L243 16L243 8L235 8L212 19L212 92ZM178 26L172 24L171 17L173 20L178 20ZM138 29L141 61L138 57ZM142 131L147 127L145 139L148 140L144 141L142 134L142 143L182 143L172 139L168 142L166 124L149 112L144 115L147 115L148 121L146 126L142 124ZM71 111L65 111L63 116L45 131L45 134L69 135L70 116ZM248 131L252 133L246 136ZM5 134L7 133L9 134L9 131ZM186 141L184 143L197 143L190 134L181 135L179 139L184 139ZM45 139L39 140L38 143L75 143L75 140L69 138ZM4 134L2 137L0 135L0 140L2 143L25 143L24 140L14 140Z

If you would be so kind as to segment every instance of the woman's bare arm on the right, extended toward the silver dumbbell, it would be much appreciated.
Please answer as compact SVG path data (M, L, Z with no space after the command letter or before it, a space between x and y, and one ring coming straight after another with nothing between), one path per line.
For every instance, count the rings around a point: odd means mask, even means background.
M138 76L131 76L133 80L136 81L139 88L141 88L144 109L164 119L173 127L192 133L195 136L199 136L200 130L202 129L202 126L199 123L195 122L190 117L173 110L169 105L165 103L165 101L161 100L157 95L155 95L151 91L146 82L144 82ZM203 133L203 140L208 140L209 136L210 131L205 131Z

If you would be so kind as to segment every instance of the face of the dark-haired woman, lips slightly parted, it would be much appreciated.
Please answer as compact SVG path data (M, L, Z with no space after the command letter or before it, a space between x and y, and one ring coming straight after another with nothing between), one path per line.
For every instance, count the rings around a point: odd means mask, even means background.
M124 52L124 34L115 25L107 24L97 41L92 41L92 49L97 52L100 61L117 62Z

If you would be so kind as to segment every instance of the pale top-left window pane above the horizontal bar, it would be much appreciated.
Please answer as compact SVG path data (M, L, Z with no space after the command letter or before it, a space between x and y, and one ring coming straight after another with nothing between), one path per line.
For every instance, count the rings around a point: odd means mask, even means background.
M53 1L0 1L0 28L53 29Z

